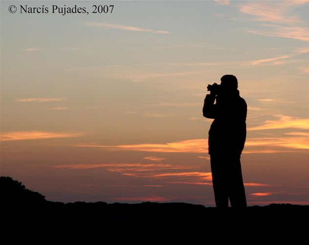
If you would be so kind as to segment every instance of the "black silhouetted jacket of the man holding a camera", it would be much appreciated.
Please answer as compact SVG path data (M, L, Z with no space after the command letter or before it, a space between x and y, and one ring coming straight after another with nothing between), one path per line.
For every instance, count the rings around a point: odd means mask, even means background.
M208 153L241 155L246 140L247 104L239 91L206 95L203 116L214 119L209 130Z

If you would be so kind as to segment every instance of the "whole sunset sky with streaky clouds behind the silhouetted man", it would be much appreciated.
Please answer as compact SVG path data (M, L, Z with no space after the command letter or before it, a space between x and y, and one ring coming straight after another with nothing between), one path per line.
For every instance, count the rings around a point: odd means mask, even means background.
M1 175L52 201L214 206L202 106L234 74L248 205L309 204L308 12L309 0L1 0Z

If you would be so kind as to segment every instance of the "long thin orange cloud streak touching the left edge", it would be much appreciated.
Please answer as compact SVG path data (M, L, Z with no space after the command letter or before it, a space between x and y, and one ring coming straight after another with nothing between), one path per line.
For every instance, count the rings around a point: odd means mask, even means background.
M1 134L0 141L40 140L51 138L79 137L80 133L55 133L44 131L16 131Z

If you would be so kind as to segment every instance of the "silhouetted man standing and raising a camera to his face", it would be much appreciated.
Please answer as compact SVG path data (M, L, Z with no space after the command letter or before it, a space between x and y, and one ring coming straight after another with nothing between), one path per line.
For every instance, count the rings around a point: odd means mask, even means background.
M246 139L247 104L240 97L234 75L207 87L203 116L214 119L208 137L208 153L217 207L246 207L241 154Z

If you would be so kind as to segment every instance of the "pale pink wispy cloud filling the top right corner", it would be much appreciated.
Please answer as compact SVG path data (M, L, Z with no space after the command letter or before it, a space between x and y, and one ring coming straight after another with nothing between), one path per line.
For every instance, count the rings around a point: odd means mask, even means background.
M260 30L250 30L249 33L309 41L309 28L297 16L290 13L294 7L308 2L308 0L273 1L269 4L266 1L249 1L240 5L240 11L254 16L254 20L261 22L261 27L264 27Z

